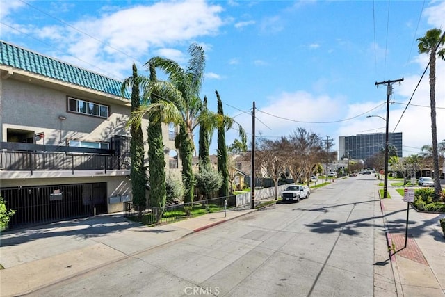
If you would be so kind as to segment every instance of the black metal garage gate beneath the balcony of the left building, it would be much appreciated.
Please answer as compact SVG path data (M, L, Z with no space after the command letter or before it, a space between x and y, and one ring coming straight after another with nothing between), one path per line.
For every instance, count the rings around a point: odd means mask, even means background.
M106 182L1 188L0 193L6 207L16 211L10 229L107 212Z

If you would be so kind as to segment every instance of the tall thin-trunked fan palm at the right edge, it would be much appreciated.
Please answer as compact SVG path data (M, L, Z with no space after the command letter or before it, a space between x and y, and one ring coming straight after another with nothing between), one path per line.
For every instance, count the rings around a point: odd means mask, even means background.
M439 153L437 150L437 124L436 124L436 100L435 100L435 84L436 84L436 55L442 60L445 59L445 48L443 47L445 32L442 34L441 29L430 29L426 31L426 35L418 38L419 54L430 55L430 105L431 105L431 134L432 134L432 160L433 170L435 172L434 189L435 201L439 200L442 194L440 186L439 174Z

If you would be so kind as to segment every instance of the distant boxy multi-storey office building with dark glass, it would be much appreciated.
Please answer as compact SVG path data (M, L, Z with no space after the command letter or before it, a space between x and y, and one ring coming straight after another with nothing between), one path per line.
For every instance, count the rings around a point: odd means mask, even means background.
M402 157L402 132L388 134L388 146L394 146ZM385 133L358 134L339 137L339 159L369 159L385 150Z

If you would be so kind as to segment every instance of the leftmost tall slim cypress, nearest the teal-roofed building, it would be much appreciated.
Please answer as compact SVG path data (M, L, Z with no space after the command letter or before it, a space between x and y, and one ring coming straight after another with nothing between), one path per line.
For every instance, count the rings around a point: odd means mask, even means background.
M122 95L124 95L129 86L131 86L131 112L133 112L140 107L140 83L138 81L138 69L134 63L132 77L129 77L124 81L124 83L122 83ZM131 192L133 194L133 204L137 206L138 214L141 216L142 211L145 209L147 204L147 199L145 198L147 173L144 166L144 136L142 128L136 123L131 125L130 134Z

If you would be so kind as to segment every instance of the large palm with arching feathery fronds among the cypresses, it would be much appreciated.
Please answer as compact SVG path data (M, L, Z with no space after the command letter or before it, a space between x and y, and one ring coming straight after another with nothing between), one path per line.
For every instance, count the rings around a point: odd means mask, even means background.
M204 49L193 43L188 52L191 55L186 68L167 58L154 57L145 65L163 70L168 81L152 81L146 93L157 93L159 100L140 106L133 113L133 120L139 121L145 114L153 115L153 120L173 122L179 125L175 146L182 161L182 182L184 202L193 202L195 179L192 171L192 158L195 151L193 131L199 125L202 101L199 97L204 77Z

